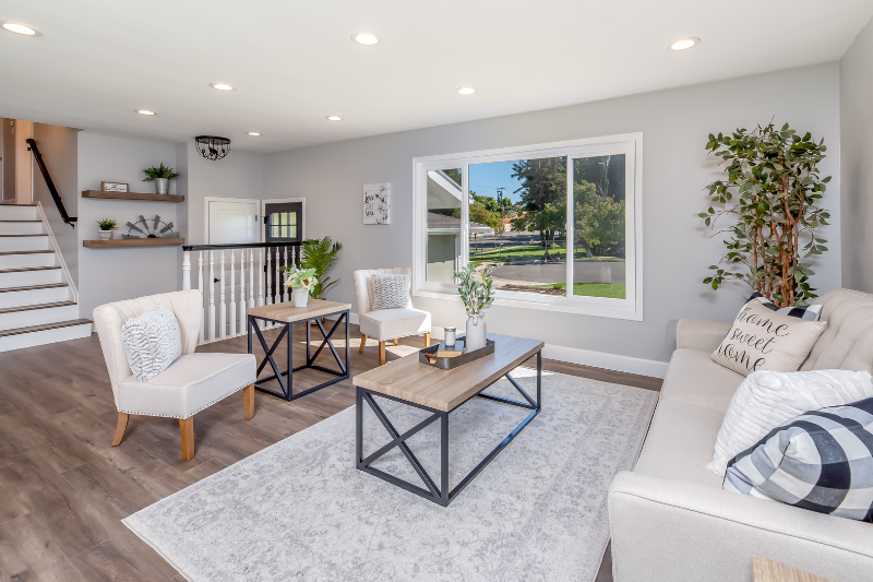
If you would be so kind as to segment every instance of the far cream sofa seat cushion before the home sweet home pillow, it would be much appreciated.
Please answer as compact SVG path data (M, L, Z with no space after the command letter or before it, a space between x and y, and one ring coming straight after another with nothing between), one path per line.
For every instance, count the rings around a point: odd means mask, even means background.
M660 400L687 402L725 413L743 380L745 377L713 361L707 352L680 348L673 352Z

